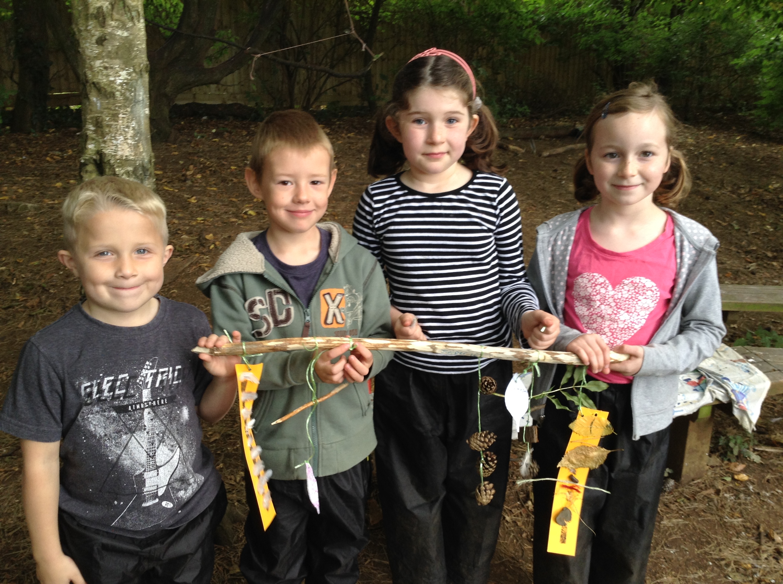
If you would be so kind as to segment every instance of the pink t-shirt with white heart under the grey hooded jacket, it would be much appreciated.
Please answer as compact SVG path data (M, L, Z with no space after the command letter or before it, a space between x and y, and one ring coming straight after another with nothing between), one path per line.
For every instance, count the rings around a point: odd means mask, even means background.
M669 307L677 274L672 217L655 241L617 253L594 242L590 211L576 225L563 320L568 327L601 335L610 347L647 345ZM607 383L633 381L614 371L591 375Z

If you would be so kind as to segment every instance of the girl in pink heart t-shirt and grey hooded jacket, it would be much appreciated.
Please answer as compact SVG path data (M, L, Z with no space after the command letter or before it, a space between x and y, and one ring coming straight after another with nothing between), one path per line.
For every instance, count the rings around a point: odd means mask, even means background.
M720 244L673 210L691 187L674 148L676 130L653 84L633 83L601 99L585 121L585 152L573 174L574 198L594 206L538 228L530 281L542 308L561 319L550 349L587 365L590 387L582 395L608 416L613 432L601 438L610 453L586 482L569 477L571 489L588 489L579 517L564 514L571 503L557 499L555 506L554 481L580 415L577 375L539 364L532 394L563 389L539 414L532 452L539 465L534 584L644 584L678 376L713 354L726 332ZM627 357L612 362L612 352ZM550 535L562 537L564 528L577 533L572 556L549 552Z

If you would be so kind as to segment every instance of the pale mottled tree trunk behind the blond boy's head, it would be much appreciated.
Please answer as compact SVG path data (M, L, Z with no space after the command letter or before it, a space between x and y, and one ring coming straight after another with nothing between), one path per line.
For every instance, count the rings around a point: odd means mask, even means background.
M71 0L79 47L81 178L155 185L143 0Z

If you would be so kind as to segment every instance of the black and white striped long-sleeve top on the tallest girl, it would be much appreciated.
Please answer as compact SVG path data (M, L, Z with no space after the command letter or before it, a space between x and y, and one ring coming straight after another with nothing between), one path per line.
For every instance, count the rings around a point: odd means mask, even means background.
M451 192L414 191L399 175L377 181L359 200L353 235L384 268L391 304L415 314L430 339L511 346L522 313L538 308L522 256L514 189L474 172ZM478 369L474 357L396 353L435 373Z

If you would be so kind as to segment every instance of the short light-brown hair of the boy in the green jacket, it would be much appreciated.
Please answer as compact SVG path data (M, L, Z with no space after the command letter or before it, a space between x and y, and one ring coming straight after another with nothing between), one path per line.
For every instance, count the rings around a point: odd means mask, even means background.
M301 109L285 109L274 112L258 125L248 166L255 173L257 181L264 172L264 160L269 152L280 147L311 149L323 146L329 152L329 170L334 169L334 149L327 134L316 119Z

